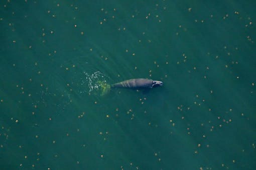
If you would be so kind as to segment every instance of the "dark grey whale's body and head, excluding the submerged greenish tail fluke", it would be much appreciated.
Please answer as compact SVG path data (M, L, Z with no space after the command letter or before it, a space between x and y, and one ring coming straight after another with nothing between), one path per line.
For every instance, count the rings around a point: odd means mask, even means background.
M128 79L115 84L112 84L113 88L153 88L163 85L162 81L146 79L146 78L136 78Z

